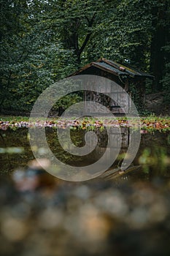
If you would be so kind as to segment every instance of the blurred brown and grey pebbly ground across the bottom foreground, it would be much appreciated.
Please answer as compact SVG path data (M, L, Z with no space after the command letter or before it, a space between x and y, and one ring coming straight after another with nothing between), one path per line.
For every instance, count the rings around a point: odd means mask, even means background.
M41 175L1 178L0 255L170 255L170 183L55 180L49 195Z

